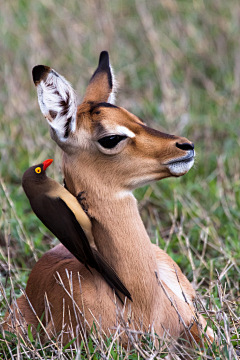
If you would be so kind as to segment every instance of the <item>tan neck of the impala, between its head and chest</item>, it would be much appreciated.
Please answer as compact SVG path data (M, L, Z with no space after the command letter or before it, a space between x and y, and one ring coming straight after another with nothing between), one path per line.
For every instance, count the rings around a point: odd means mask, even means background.
M149 271L154 275L156 260L133 195L121 199L99 199L90 210L94 217L95 243L116 271L124 274L133 287L136 283L133 273L146 276Z

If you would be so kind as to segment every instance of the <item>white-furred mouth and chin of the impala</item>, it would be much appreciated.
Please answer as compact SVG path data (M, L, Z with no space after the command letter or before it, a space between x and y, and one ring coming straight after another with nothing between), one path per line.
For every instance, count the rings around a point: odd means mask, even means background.
M170 173L174 176L186 174L194 164L195 151L189 150L187 155L168 161L166 164Z

